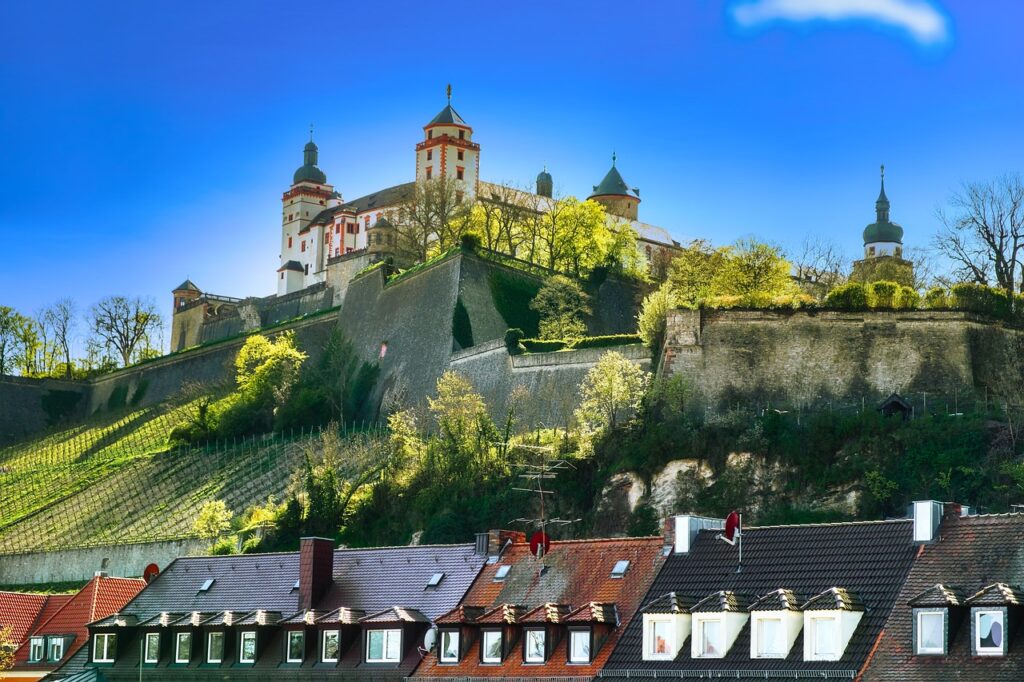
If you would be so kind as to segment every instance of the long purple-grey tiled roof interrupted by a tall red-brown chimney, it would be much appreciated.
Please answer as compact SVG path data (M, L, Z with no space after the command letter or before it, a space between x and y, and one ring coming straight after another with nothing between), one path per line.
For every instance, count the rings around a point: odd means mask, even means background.
M473 545L425 545L337 550L334 584L316 604L323 613L342 606L377 613L401 606L429 619L450 611L476 578L484 557ZM427 590L435 572L444 572L436 588ZM281 611L298 608L298 552L234 556L182 557L174 560L128 604L122 613L139 621L163 611L183 619L211 617L223 611ZM214 579L209 590L200 587ZM203 616L196 616L194 612Z

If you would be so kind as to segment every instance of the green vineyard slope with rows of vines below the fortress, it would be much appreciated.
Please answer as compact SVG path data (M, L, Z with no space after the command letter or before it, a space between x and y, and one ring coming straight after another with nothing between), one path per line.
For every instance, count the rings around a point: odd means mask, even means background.
M0 451L0 553L193 536L199 509L282 497L310 432L168 450L182 408L102 416Z

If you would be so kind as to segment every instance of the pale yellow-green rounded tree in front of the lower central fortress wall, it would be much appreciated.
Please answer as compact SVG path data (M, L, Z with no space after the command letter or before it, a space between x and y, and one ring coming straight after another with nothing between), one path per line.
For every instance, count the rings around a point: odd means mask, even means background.
M614 429L640 408L649 375L617 351L608 351L580 386L575 418L584 433Z

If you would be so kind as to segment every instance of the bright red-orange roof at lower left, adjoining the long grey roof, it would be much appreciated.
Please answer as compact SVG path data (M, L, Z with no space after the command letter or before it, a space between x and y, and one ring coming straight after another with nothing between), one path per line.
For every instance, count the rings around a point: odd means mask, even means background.
M70 595L50 617L40 621L29 635L74 635L63 654L67 660L88 641L89 623L118 612L144 587L145 581L135 578L93 578L78 594ZM15 670L52 667L45 662L29 663L28 641L23 641L14 652Z

